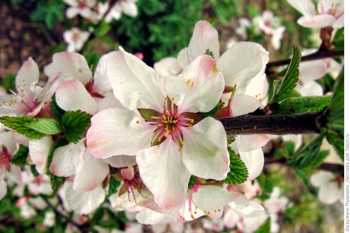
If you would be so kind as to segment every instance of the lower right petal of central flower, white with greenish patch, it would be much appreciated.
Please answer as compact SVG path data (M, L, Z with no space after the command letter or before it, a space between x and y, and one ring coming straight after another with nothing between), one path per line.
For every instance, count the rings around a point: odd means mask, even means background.
M182 133L182 161L189 172L204 179L225 179L230 159L221 122L206 117L191 128L182 128Z

